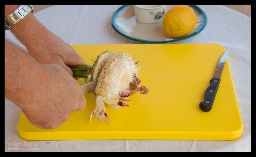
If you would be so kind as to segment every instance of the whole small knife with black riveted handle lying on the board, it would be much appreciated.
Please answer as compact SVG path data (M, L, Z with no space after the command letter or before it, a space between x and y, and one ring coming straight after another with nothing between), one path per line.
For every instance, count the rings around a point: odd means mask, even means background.
M210 81L210 86L204 92L204 101L199 103L199 107L204 112L209 112L212 109L212 105L220 85L220 77L228 57L228 51L226 51L221 57L216 66L213 77Z

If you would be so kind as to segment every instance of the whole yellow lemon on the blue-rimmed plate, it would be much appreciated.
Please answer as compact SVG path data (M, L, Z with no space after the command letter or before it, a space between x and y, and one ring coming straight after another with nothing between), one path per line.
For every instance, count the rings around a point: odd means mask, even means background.
M196 26L197 17L188 5L176 5L169 9L163 18L163 28L171 37L182 37Z

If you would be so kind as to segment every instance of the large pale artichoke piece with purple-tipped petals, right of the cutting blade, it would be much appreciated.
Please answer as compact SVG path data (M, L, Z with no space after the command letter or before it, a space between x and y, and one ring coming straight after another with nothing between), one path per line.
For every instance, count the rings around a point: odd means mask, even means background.
M135 93L148 93L148 88L140 85L141 80L137 77L139 69L140 67L137 69L136 63L127 53L116 53L107 60L100 72L94 92L96 108L90 116L90 122L94 114L101 122L105 121L104 116L110 121L105 103L119 110L118 106L129 106L122 102L131 101L126 97Z

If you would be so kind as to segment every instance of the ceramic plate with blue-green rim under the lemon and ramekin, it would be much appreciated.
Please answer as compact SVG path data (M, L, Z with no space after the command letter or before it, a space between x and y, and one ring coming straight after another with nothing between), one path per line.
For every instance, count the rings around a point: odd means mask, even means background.
M167 5L168 11L175 5ZM136 20L133 5L124 5L117 9L111 19L115 31L125 38L141 43L174 43L187 40L199 34L207 24L207 17L202 9L196 5L188 5L196 13L197 24L192 32L184 37L172 38L165 34L162 21L155 24L144 24Z

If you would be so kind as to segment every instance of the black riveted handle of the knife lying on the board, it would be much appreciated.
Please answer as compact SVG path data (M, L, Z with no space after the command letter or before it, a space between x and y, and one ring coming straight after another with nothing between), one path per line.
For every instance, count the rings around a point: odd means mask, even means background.
M212 78L210 86L204 92L204 101L199 103L199 107L204 112L209 112L212 109L212 105L220 85L220 78Z

